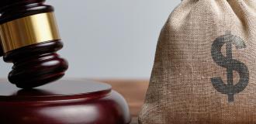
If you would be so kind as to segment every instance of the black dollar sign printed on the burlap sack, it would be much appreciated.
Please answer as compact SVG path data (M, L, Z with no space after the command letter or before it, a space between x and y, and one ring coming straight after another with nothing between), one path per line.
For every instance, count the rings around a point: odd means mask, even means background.
M223 47L225 43L226 57L221 53L221 47ZM214 40L211 51L214 62L221 67L227 68L227 84L224 84L221 77L213 77L211 81L216 91L228 96L228 102L234 102L234 95L243 91L249 82L247 66L232 58L232 44L234 44L237 50L246 47L244 40L228 32L226 35L220 36ZM234 84L233 71L237 71L240 77L237 84Z

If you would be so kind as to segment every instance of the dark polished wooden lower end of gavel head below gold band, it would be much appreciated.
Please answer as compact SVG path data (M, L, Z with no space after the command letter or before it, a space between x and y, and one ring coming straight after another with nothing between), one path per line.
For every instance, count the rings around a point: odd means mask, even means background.
M35 88L60 79L68 68L56 53L62 47L61 41L50 41L5 53L5 62L13 63L9 81L18 88Z

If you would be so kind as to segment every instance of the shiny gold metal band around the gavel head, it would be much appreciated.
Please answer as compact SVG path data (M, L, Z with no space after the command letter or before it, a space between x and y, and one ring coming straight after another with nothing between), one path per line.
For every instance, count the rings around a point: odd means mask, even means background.
M54 13L29 15L0 25L3 52L32 44L60 40Z

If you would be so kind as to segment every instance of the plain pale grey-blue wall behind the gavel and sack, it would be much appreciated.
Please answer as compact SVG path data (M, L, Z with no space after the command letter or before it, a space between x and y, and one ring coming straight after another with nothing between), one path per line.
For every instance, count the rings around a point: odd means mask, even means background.
M180 0L48 0L69 62L65 77L149 79L157 39ZM12 64L0 62L0 77Z

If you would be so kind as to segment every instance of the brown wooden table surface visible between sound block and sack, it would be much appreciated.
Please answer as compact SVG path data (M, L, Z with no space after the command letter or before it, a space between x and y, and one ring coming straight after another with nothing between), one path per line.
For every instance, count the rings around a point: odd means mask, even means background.
M130 113L133 117L131 124L137 124L137 116L144 103L147 92L147 80L98 80L112 85L112 89L118 91L130 107Z

